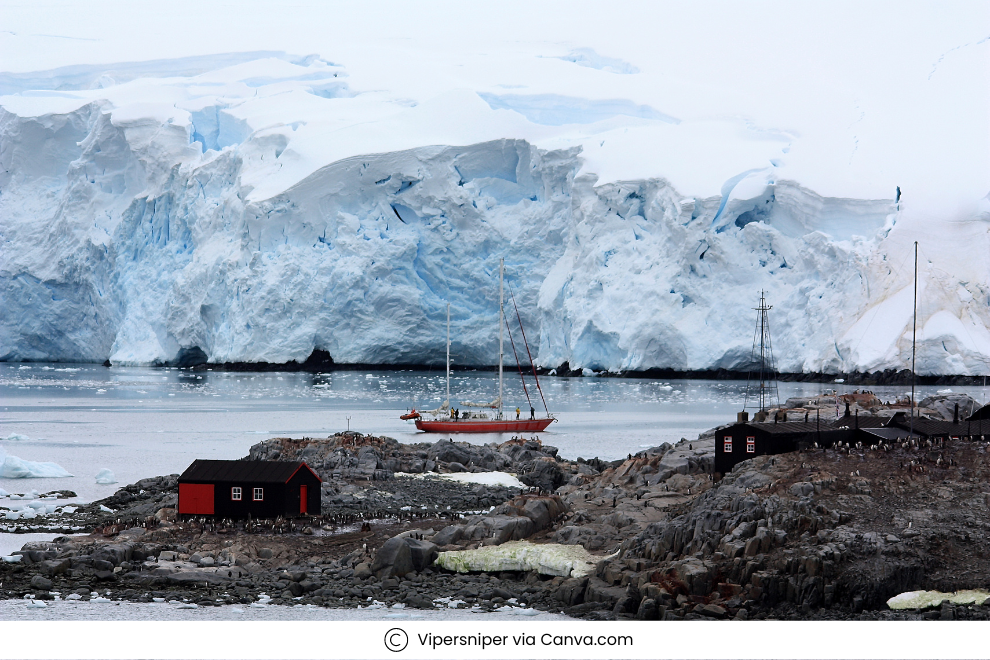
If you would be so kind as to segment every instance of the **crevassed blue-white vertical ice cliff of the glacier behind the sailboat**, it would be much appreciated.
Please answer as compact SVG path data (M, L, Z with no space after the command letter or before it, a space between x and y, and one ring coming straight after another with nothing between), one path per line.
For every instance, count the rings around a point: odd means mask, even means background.
M387 113L338 65L186 64L180 82L74 70L36 94L51 76L0 76L0 359L436 364L449 302L455 362L492 364L505 257L548 367L744 368L761 290L782 370L909 364L893 199L819 195L762 155L706 195L662 173L600 180L590 143L539 133L681 130L648 106L461 91L390 101L383 137L358 120ZM434 131L452 108L484 128ZM985 269L921 266L919 371L984 373Z

